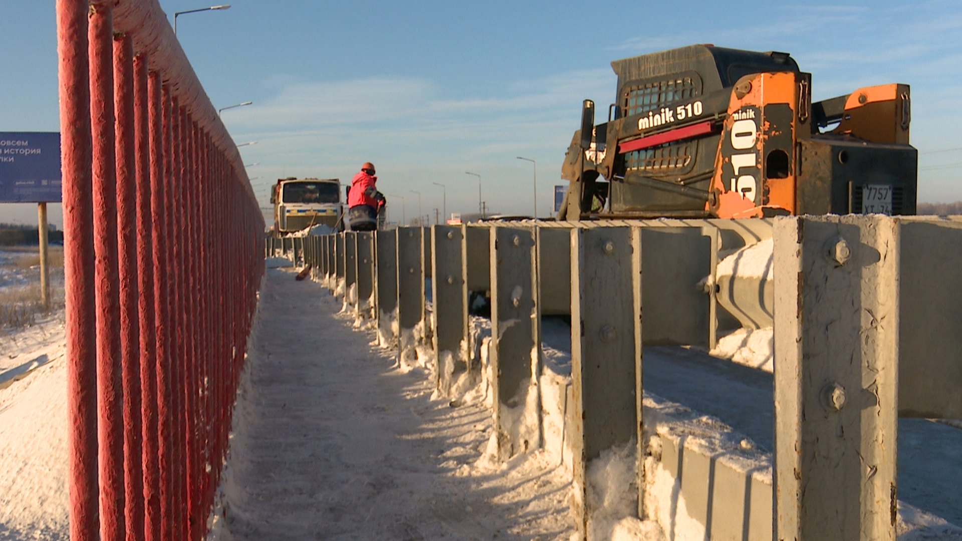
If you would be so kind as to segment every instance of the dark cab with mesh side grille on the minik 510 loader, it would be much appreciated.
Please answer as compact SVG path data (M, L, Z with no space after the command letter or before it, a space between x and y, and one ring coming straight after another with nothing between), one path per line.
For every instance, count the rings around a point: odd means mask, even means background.
M759 53L713 45L691 45L611 65L618 75L618 92L609 108L610 118L637 118L625 123L642 126L684 119L679 116L708 118L724 113L730 89L745 75L798 72L798 64L788 53ZM682 102L687 108L679 111L674 104ZM599 125L595 131L606 129ZM614 178L607 179L615 182L608 184L608 190L595 187L595 193L607 192L606 197L594 197L595 208L598 200L605 198L607 211L613 214L657 215L671 211L676 215L703 215L706 200L701 193L710 190L720 140L721 132L712 132L618 153L613 174L609 175ZM662 183L677 189L665 190Z

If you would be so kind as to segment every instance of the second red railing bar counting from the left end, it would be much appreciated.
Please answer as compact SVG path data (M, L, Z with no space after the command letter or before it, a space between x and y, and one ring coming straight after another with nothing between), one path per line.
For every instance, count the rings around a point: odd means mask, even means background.
M90 125L93 135L93 243L96 254L97 432L101 539L124 538L123 387L117 284L114 153L114 24L110 2L90 4Z

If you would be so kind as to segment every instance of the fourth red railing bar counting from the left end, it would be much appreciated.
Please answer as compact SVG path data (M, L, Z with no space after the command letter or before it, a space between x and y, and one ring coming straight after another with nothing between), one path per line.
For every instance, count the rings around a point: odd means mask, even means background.
M137 141L137 252L139 279L139 325L140 325L140 385L141 385L141 433L142 433L142 495L144 504L143 538L156 541L161 537L161 490L160 471L157 466L158 430L157 423L157 320L154 302L153 267L153 219L151 216L152 176L160 177L160 167L155 171L151 159L151 142L156 150L163 150L161 126L152 119L160 115L160 95L156 89L150 91L147 73L146 53L134 58L134 111ZM156 74L153 76L157 85ZM151 99L156 97L156 101ZM129 532L128 532L129 533Z

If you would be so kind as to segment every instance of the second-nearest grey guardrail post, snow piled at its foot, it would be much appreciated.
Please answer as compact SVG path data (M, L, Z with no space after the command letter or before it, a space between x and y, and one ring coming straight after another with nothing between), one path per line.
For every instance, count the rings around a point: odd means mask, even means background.
M642 514L642 232L632 227L570 229L571 389L575 434L574 513L591 521L588 469L602 452L635 440Z

